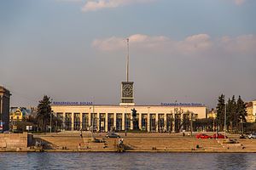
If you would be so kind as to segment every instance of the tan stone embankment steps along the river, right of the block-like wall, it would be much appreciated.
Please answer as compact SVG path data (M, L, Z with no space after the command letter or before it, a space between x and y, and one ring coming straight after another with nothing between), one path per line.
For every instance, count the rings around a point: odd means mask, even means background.
M229 135L237 144L223 144L224 139L196 139L187 133L119 133L124 139L125 151L131 152L256 152L256 139L239 139ZM213 133L208 133L212 135ZM94 133L96 142L91 141L91 133L62 132L35 134L34 139L42 141L45 151L116 151L118 139L108 139L106 133Z

